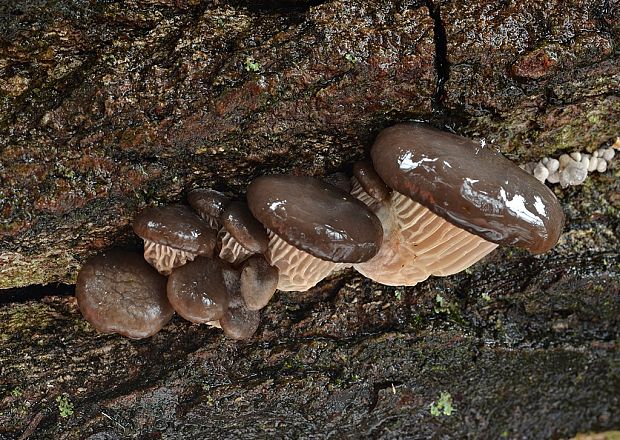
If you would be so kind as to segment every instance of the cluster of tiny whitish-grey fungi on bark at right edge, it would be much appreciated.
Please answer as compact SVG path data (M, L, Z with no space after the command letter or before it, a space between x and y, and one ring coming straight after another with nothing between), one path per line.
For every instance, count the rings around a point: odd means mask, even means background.
M581 185L588 173L607 171L617 149L620 149L620 138L611 147L599 148L592 154L574 152L563 154L558 159L545 157L539 162L521 165L521 168L543 183L559 183L562 188L566 188Z

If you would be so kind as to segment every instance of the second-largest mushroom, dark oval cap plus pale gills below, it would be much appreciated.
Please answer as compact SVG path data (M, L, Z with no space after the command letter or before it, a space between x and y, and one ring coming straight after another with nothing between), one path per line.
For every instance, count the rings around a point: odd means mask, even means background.
M318 179L263 176L248 187L248 206L268 230L267 261L278 289L305 291L334 270L372 258L381 223L360 201Z

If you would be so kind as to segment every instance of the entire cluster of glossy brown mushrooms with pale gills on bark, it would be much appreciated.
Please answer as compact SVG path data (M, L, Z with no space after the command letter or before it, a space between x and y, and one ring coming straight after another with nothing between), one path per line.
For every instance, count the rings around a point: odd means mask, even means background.
M133 222L144 259L113 250L89 260L76 287L82 314L101 332L143 338L176 311L247 339L276 290L305 291L348 267L412 286L500 244L541 253L559 238L553 193L469 139L399 124L379 134L371 159L350 179L262 176L245 202L195 189L191 208L145 209Z

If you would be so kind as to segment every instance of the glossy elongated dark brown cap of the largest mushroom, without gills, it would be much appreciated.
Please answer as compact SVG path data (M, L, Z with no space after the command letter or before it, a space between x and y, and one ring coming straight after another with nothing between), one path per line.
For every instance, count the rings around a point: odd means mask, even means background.
M399 124L379 133L371 155L389 187L485 240L540 253L560 236L564 214L553 192L491 148Z

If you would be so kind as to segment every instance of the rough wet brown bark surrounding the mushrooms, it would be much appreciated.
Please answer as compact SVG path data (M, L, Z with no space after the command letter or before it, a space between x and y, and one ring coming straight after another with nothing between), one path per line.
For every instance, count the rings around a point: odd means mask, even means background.
M278 294L245 343L179 318L145 341L102 336L59 295L70 286L17 289L139 246L128 224L144 206L346 170L395 122L482 137L519 162L613 142L618 2L7 3L0 439L620 427L617 168L556 189L567 224L545 255L503 249L406 289L345 272ZM442 392L451 415L431 412Z

